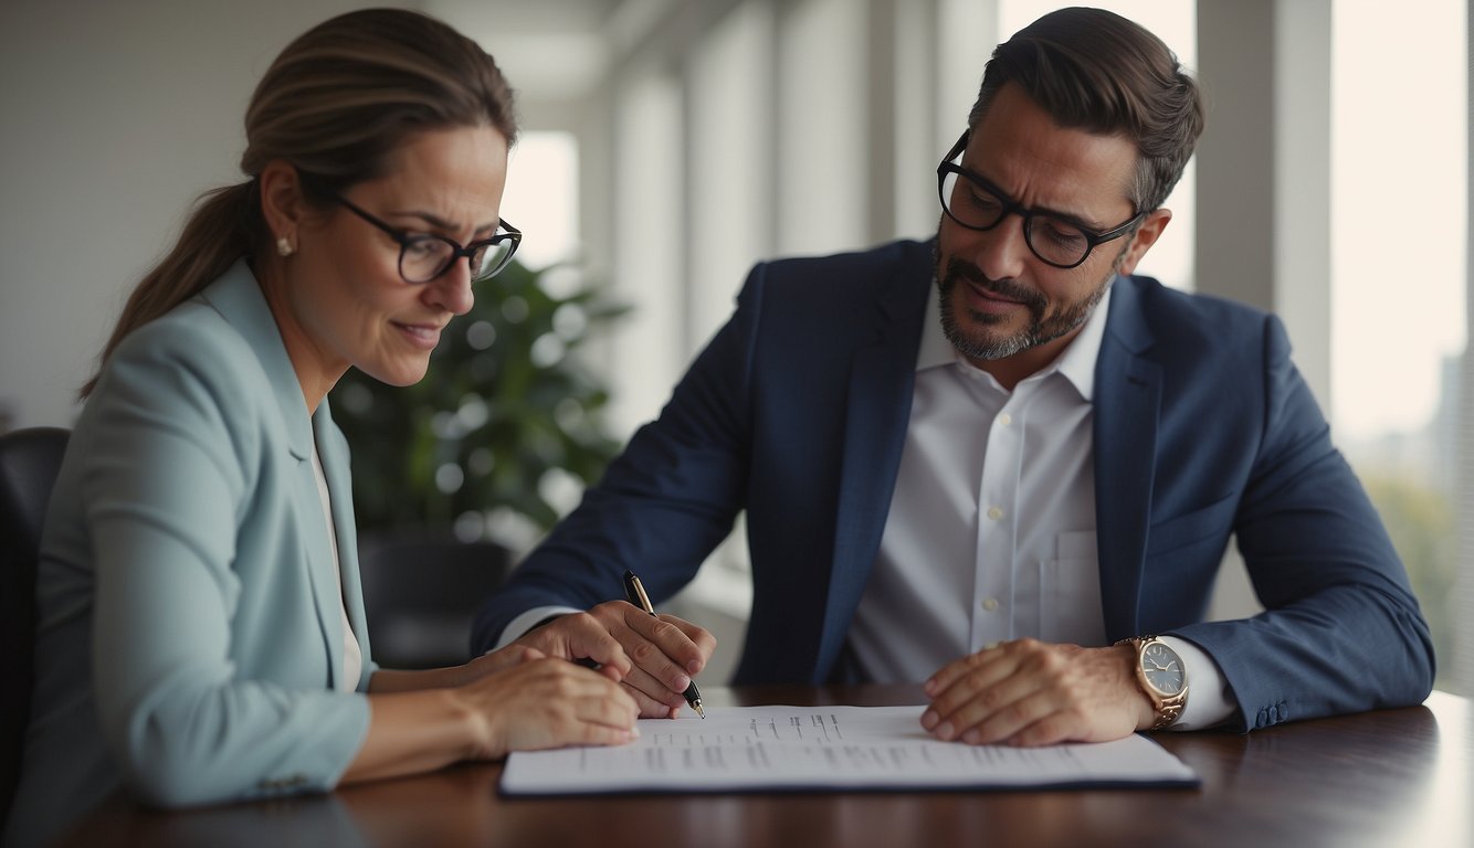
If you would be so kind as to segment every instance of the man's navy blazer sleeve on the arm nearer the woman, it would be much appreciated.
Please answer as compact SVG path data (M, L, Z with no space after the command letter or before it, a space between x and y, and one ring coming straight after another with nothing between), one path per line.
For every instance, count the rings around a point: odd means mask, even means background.
M473 652L539 607L587 610L619 598L625 568L659 602L688 583L743 509L750 455L752 352L764 299L756 266L737 309L582 504L494 592Z

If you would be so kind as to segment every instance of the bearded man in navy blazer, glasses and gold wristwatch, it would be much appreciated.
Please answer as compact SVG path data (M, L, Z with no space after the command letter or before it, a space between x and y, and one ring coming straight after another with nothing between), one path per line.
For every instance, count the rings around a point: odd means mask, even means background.
M666 714L710 635L600 601L675 592L746 509L738 683L924 682L936 738L1014 745L1419 702L1427 624L1279 321L1131 277L1201 125L1116 15L999 46L936 240L755 268L476 646L607 635ZM1266 611L1204 623L1229 536Z

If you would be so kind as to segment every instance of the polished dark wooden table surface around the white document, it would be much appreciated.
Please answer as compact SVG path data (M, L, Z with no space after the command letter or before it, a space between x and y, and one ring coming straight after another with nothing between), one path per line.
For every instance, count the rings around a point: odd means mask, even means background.
M909 686L703 695L709 708L923 701ZM1474 845L1474 710L1464 698L1436 692L1406 710L1156 738L1200 788L528 799L498 796L501 766L467 764L181 813L119 796L65 845Z

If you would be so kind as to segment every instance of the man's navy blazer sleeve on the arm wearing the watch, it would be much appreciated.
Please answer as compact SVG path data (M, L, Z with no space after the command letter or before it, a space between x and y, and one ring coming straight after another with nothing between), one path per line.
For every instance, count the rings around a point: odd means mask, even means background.
M1219 664L1240 730L1419 704L1434 658L1406 570L1332 446L1284 327L1263 321L1263 440L1235 533L1265 611L1173 633Z

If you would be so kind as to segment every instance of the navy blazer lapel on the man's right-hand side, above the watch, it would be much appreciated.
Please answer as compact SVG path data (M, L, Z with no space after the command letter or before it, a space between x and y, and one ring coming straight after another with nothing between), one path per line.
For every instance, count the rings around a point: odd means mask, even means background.
M1162 367L1145 355L1154 337L1138 284L1122 277L1114 286L1095 364L1094 430L1095 537L1110 640L1138 635L1162 409Z

